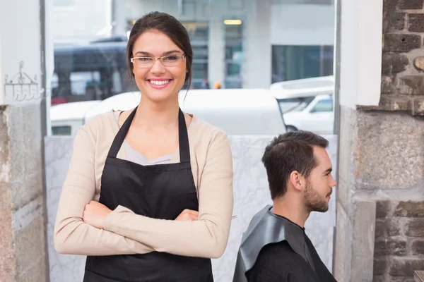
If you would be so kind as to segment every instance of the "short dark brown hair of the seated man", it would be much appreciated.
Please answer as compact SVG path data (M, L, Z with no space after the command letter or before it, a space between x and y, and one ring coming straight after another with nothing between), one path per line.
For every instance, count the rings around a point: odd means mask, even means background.
M271 199L282 197L287 191L290 173L298 171L305 178L317 164L314 146L326 148L329 142L309 131L299 130L274 137L266 146L262 162L268 176Z

